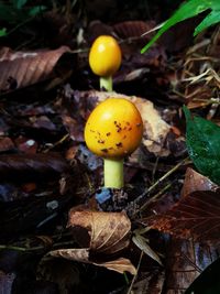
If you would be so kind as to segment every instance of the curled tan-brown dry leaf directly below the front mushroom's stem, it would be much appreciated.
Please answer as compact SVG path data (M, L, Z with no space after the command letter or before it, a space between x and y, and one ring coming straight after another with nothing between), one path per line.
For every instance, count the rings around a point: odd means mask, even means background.
M82 227L90 236L90 250L112 254L129 244L131 221L124 213L69 211L68 227Z

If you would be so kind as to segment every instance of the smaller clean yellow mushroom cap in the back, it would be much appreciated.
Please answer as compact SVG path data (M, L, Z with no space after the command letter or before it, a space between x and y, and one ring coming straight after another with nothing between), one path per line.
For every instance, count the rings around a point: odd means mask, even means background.
M121 50L110 35L98 36L89 52L91 70L101 77L112 76L121 65Z

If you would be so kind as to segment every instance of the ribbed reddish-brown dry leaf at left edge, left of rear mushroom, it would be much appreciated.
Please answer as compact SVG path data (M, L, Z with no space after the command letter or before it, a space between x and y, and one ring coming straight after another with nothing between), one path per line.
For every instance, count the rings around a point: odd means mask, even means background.
M52 77L61 56L68 52L67 46L37 52L0 52L0 91L10 91L43 81Z

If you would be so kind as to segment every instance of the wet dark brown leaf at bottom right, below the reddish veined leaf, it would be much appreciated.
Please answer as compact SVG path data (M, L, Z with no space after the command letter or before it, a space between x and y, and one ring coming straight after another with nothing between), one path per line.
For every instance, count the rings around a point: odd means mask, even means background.
M217 258L216 247L172 238L166 255L165 293L185 293L195 279Z

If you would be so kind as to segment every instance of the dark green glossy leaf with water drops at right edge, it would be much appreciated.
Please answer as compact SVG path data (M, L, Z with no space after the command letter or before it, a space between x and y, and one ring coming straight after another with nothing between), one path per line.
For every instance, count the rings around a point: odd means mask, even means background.
M186 144L188 153L198 171L220 185L220 127L213 122L190 116L186 117Z

